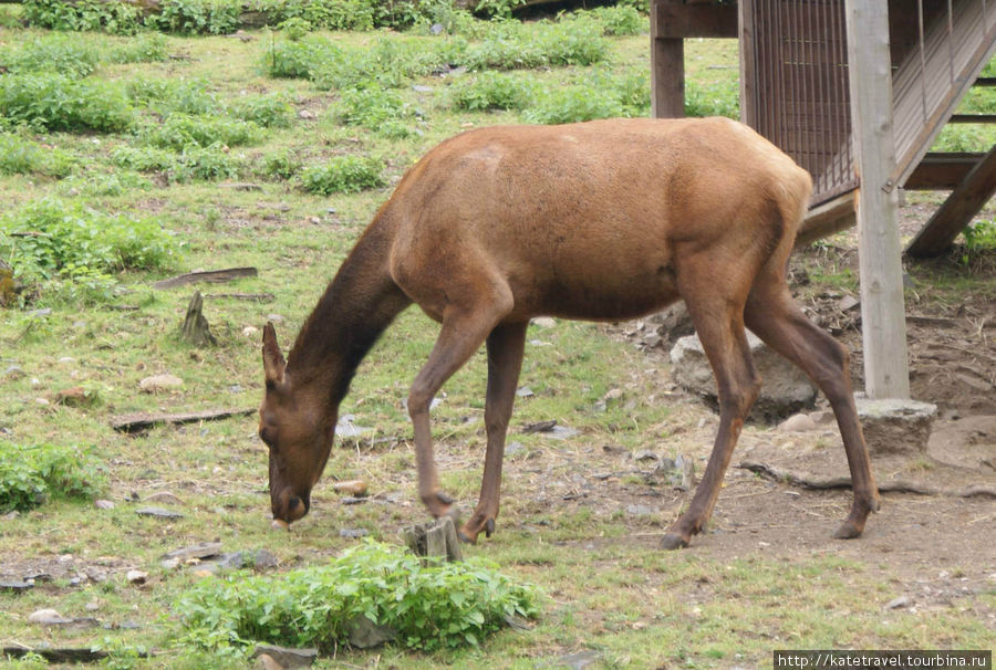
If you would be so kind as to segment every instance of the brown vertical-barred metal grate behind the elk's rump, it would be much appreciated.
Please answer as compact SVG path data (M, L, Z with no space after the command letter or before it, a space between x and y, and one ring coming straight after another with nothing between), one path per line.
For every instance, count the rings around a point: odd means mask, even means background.
M843 0L755 0L746 118L809 170L812 205L854 189Z

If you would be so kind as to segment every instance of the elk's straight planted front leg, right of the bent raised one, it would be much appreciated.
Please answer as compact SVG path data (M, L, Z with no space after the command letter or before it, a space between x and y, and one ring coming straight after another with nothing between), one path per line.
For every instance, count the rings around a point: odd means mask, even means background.
M460 528L460 540L464 542L477 542L481 531L488 537L495 532L501 495L505 438L516 399L519 373L522 369L528 325L528 322L501 324L488 336L488 394L485 401L488 448L480 484L480 501L474 514Z

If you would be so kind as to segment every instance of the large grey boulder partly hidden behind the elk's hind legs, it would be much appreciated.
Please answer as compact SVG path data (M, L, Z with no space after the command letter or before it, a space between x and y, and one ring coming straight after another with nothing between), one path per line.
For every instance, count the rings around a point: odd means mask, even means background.
M812 406L817 389L802 370L769 349L750 332L747 333L747 343L755 367L764 380L750 412L751 419L777 420ZM678 339L671 349L671 362L675 381L716 409L716 380L698 336Z

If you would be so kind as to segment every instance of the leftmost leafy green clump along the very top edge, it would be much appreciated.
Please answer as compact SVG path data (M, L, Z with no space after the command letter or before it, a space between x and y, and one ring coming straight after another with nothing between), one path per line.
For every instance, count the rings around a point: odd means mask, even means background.
M133 34L142 25L141 8L106 0L24 0L23 17L28 25L52 30Z

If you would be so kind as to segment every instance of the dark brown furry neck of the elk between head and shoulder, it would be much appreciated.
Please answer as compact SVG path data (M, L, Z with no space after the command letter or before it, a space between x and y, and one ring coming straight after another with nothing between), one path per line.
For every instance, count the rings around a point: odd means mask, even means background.
M294 387L328 392L332 408L345 397L356 368L381 333L411 303L387 273L388 240L383 228L372 224L350 252L288 356Z

